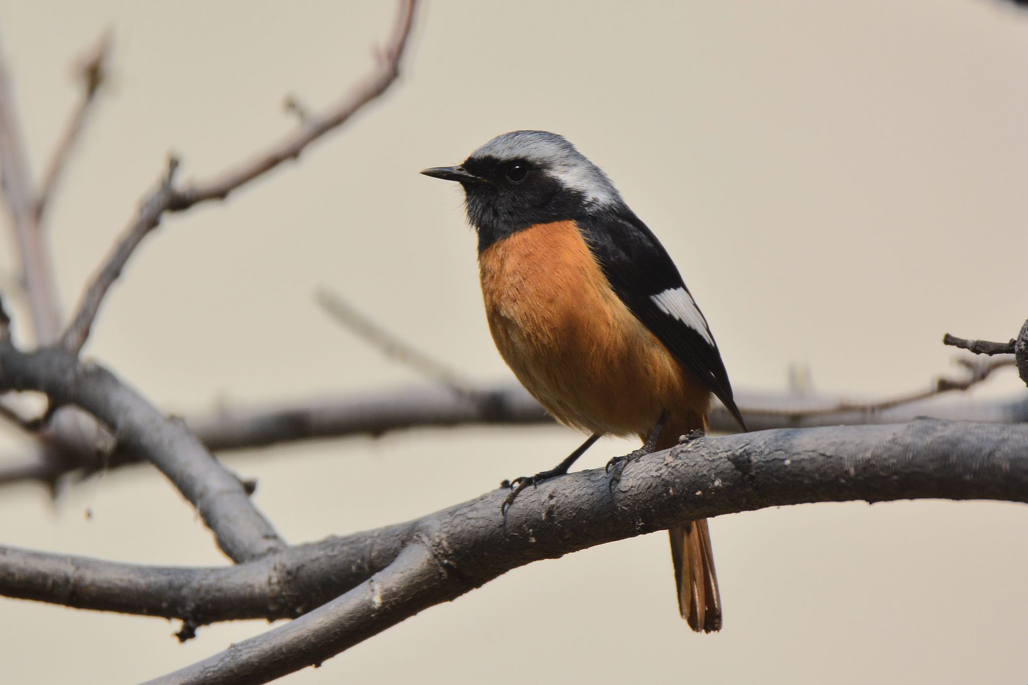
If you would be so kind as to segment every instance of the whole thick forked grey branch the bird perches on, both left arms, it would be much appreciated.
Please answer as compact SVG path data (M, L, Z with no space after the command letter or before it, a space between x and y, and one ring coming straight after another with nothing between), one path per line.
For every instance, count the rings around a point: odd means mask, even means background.
M602 469L577 472L526 490L505 522L500 505L506 494L493 491L414 521L228 568L139 567L7 549L0 554L0 593L203 624L296 616L350 592L315 618L294 622L299 633L289 636L309 635L317 624L324 639L297 651L288 638L280 644L285 661L262 662L266 673L278 673L282 663L295 669L327 658L518 566L688 518L804 502L1028 502L1028 426L920 420L702 438L629 465L613 497ZM382 588L396 568L376 574L412 546L432 552L438 577L416 576L416 586L404 585L394 596ZM371 578L387 607L381 612L369 601ZM263 650L266 643L256 644ZM241 643L218 660L245 671L249 649Z

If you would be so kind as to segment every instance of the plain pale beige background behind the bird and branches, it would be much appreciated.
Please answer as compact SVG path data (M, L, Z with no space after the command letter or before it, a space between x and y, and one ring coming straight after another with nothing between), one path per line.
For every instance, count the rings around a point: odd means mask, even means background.
M52 208L66 307L163 169L209 177L370 65L392 2L0 1L40 173L105 27L114 81ZM324 285L483 381L510 377L482 315L456 188L417 175L514 129L602 166L675 258L734 385L806 364L854 396L952 369L944 332L1005 339L1026 315L1028 13L988 0L450 2L425 7L388 97L299 160L169 219L86 350L169 411L416 376L314 303ZM13 278L0 243L0 284ZM20 310L22 312L23 310ZM21 324L25 326L23 322ZM1024 392L1004 373L976 396ZM236 455L290 541L419 516L552 466L558 427L438 430ZM4 453L20 444L0 435ZM602 465L632 445L607 441ZM84 512L91 510L91 520ZM1021 683L1028 509L817 505L715 519L720 635L676 612L663 533L516 570L287 683ZM0 544L220 564L152 469L56 504L0 491ZM134 682L266 629L179 645L153 618L0 600L5 682Z

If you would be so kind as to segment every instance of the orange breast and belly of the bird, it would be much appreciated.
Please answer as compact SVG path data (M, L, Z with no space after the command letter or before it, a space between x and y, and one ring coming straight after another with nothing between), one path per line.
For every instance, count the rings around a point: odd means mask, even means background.
M710 393L611 289L574 221L539 224L479 255L492 339L555 419L649 435L663 411L699 426Z

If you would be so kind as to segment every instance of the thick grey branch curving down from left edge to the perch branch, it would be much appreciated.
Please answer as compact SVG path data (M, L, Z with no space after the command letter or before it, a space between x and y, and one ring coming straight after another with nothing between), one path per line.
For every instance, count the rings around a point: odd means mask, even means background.
M24 354L0 344L0 390L35 390L51 405L73 404L93 414L123 449L146 458L175 483L230 558L254 558L285 544L238 479L182 421L162 416L107 369L58 349Z

